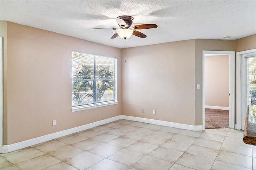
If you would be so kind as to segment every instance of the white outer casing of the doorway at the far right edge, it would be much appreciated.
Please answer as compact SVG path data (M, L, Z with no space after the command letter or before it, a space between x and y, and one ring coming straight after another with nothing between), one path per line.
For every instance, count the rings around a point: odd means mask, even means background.
M240 51L236 53L236 129L240 130L242 126L241 120L241 57L246 53L256 52L256 49Z

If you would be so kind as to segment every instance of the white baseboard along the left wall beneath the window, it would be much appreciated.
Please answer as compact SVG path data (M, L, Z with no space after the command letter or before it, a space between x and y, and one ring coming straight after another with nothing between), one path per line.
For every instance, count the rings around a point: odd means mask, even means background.
M9 144L9 145L3 145L2 146L2 153L8 153L8 152L12 152L14 150L19 150L19 149L22 149L22 148L26 148L28 146L32 146L32 145L35 145L35 144L46 142L48 140L52 140L52 139L60 138L62 136L66 136L68 134L80 132L80 131L83 131L83 130L86 130L86 129L89 129L89 128L93 128L93 127L97 127L97 126L100 126L100 125L104 125L106 123L117 121L119 119L121 119L121 115L116 116L116 117L111 117L111 118L108 118L108 119L104 119L104 120L101 120L101 121L89 123L89 124L82 125L82 126L79 126L79 127L70 128L70 129L67 129L67 130L62 130L60 132L55 132L55 133L52 133L52 134L46 134L44 136L40 136L40 137L37 137L37 138L32 138L32 139L29 139L29 140L24 140L22 142Z

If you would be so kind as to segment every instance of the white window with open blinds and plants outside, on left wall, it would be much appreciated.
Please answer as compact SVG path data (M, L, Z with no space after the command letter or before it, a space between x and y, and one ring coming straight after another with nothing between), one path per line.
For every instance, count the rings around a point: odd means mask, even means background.
M117 103L116 58L72 52L72 111Z

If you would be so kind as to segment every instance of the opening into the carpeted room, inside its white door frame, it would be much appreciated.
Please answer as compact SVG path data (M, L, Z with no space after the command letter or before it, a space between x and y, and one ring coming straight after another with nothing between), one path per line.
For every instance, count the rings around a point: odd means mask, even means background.
M205 128L229 126L229 55L205 54Z

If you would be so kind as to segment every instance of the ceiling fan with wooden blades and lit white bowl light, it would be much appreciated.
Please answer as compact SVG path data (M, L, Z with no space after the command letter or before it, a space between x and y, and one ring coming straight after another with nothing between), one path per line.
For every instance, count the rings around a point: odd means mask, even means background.
M132 16L118 16L116 18L116 22L120 28L92 28L94 29L111 29L117 30L116 34L114 34L111 39L120 36L121 38L129 38L130 36L134 35L140 38L146 38L146 35L137 31L142 29L149 29L149 28L157 28L156 24L141 24L132 26L133 17Z

